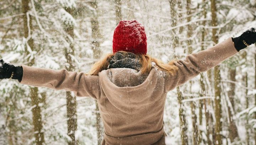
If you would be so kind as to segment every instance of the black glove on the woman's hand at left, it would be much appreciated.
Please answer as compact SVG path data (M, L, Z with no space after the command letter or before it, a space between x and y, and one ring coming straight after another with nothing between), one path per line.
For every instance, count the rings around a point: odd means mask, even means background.
M16 79L21 82L23 69L22 66L14 66L9 63L5 63L4 60L0 60L0 79L9 79L12 75L12 79Z

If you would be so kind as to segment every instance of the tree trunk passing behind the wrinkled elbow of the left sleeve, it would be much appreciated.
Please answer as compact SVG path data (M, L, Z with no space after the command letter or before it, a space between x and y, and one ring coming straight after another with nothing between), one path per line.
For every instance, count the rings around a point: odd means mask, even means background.
M74 16L73 8L65 7L65 10L71 15ZM64 30L65 32L74 39L74 26L64 22ZM70 57L74 55L74 42L66 38L69 42L69 48L65 48L65 58L69 66L66 66L66 70L74 71L75 66L72 62ZM67 117L68 117L68 136L71 138L72 141L69 141L69 145L76 145L75 140L75 131L77 129L77 116L76 116L76 97L71 95L70 91L66 91L66 109L67 109Z

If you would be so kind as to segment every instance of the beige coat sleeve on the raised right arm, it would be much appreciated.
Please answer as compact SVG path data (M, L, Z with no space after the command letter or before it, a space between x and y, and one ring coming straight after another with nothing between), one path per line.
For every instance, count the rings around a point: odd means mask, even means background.
M213 68L236 53L238 53L238 51L235 49L234 43L230 37L213 47L189 54L184 60L177 60L174 63L174 65L178 67L176 74L165 77L166 91L173 90L176 86L184 84L198 74Z

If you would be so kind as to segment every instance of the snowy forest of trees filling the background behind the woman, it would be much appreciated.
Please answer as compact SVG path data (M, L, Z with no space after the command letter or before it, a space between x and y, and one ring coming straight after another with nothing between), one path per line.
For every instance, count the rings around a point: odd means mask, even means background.
M168 63L255 27L256 0L0 0L0 58L87 73L133 19ZM256 45L168 92L164 130L167 145L255 145ZM100 145L103 134L93 98L0 80L1 145Z

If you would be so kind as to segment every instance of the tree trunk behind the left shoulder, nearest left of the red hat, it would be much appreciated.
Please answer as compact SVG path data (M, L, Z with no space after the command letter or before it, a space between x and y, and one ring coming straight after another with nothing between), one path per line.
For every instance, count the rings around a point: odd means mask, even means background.
M99 22L98 22L98 14L97 14L97 1L92 1L91 6L95 9L95 12L93 13L93 16L91 18L91 27L92 27L92 50L94 52L94 59L99 59L101 56L101 50L100 50L100 29L99 29ZM102 127L101 127L101 117L100 112L98 108L97 100L95 100L95 115L96 115L96 130L97 130L97 145L101 145L102 141Z

